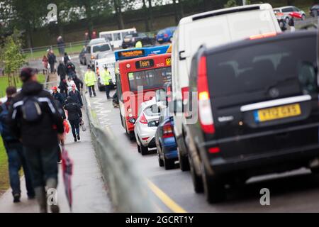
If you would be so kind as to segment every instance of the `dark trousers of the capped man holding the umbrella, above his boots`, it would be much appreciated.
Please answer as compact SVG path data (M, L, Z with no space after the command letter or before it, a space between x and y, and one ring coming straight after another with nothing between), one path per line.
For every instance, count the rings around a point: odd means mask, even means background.
M47 148L25 147L33 187L45 187L47 179L57 180L57 145Z

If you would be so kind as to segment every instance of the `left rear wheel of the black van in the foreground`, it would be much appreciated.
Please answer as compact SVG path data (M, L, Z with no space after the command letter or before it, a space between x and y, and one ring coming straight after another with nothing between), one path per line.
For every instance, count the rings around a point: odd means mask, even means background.
M203 189L206 200L215 204L226 199L225 184L220 176L208 175L205 165L202 164Z

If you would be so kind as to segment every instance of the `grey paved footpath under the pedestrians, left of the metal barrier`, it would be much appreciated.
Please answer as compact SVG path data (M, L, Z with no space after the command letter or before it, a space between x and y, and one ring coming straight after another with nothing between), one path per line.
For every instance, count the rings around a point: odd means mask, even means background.
M86 113L83 111L84 122L87 130L81 131L81 142L74 143L72 133L67 135L66 148L69 156L74 161L74 174L72 176L73 209L72 212L112 212L111 201L108 198L107 189L101 178L98 163L91 144L91 135ZM38 212L35 200L28 200L26 187L22 178L21 203L13 204L11 189L0 197L0 213L33 213ZM62 213L70 212L65 197L65 187L62 181L62 170L60 166L58 201Z

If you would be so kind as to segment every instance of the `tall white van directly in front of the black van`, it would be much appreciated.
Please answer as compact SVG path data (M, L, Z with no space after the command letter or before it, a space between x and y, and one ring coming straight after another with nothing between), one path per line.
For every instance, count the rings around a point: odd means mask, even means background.
M187 106L191 59L201 45L211 48L251 35L281 32L270 4L256 4L220 9L182 18L172 42L172 90L174 106ZM184 99L184 100L182 100ZM189 170L183 137L184 114L174 113L181 170Z

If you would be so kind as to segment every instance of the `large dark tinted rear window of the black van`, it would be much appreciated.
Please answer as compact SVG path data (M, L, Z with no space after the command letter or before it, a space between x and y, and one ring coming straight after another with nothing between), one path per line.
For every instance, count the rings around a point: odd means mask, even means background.
M252 92L262 95L272 87L291 94L316 92L315 47L315 37L307 37L247 45L210 55L207 65L211 93L215 97Z

